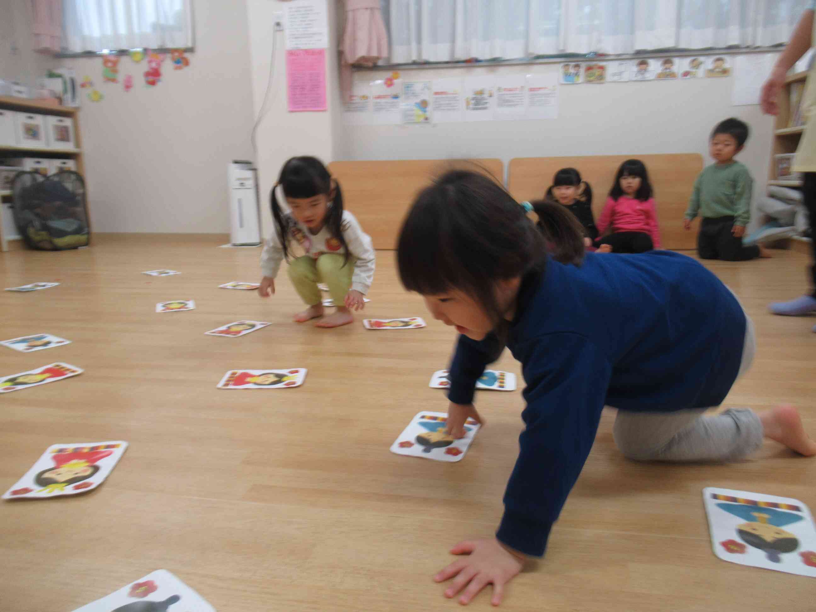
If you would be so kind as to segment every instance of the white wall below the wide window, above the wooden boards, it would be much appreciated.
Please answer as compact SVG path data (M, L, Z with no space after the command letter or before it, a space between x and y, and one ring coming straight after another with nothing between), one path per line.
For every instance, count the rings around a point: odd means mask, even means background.
M421 81L491 73L557 73L558 64L404 70ZM385 78L392 71L354 73L355 80ZM547 121L440 123L428 126L343 126L337 159L512 157L631 153L701 153L717 122L740 118L752 134L738 160L751 170L754 193L765 193L773 118L758 105L731 106L734 78L559 86L559 115ZM580 171L580 168L579 168ZM659 194L658 194L659 197ZM353 206L353 204L352 204Z

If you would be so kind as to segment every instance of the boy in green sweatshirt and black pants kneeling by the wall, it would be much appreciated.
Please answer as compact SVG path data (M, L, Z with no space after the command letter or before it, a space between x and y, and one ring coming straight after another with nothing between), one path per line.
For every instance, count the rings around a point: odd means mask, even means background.
M743 246L743 234L751 219L753 179L747 167L734 161L748 140L748 126L739 119L725 119L712 131L709 151L714 163L707 166L694 181L689 209L683 226L700 215L703 223L697 236L700 259L745 261L770 257L765 248Z

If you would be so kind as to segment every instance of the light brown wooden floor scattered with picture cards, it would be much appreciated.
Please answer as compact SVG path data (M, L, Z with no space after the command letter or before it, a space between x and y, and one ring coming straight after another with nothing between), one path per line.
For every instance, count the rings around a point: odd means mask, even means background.
M490 535L499 521L521 393L477 394L488 423L461 463L392 455L416 412L446 410L428 380L446 366L455 333L430 320L394 332L297 325L286 274L269 300L217 288L259 278L259 249L221 242L120 235L80 251L0 255L3 287L62 283L0 292L2 339L73 340L28 354L0 347L0 374L52 361L86 370L2 397L0 488L51 444L131 444L90 494L0 503L0 609L67 612L162 568L220 612L458 609L431 575L450 545ZM816 432L816 318L765 311L800 295L807 258L776 255L710 264L759 336L753 369L726 404L791 401ZM392 252L378 257L366 315L429 319L401 289ZM155 268L181 274L141 274ZM197 309L154 312L170 299L195 299ZM273 325L239 339L203 334L242 318ZM508 353L499 365L520 374ZM308 377L295 389L216 389L233 367L307 367ZM813 579L714 557L701 490L778 494L816 509L816 459L768 442L756 460L731 465L632 463L615 449L607 413L547 556L512 582L503 610L814 610ZM470 608L490 608L489 596Z

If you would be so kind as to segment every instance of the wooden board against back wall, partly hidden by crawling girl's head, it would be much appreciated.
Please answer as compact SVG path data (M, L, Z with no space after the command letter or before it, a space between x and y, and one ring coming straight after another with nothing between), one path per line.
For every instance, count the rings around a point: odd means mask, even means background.
M374 248L396 249L402 220L416 194L454 167L481 171L503 183L500 159L331 162L329 171L343 190L344 206L357 217Z

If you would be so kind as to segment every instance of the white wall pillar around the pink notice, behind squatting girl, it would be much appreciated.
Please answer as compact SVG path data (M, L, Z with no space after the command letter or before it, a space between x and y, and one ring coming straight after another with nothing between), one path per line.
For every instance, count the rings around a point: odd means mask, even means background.
M338 11L335 0L326 0L329 7L329 48L326 49L326 82L328 110L325 113L290 113L286 104L286 38L274 32L277 11L284 11L280 0L246 0L246 16L250 28L252 57L252 101L257 116L263 104L272 56L273 36L277 37L274 77L269 93L264 121L257 132L260 175L261 211L264 235L271 231L269 191L277 181L281 166L289 157L313 155L326 164L333 159L339 145L340 104L337 69Z

